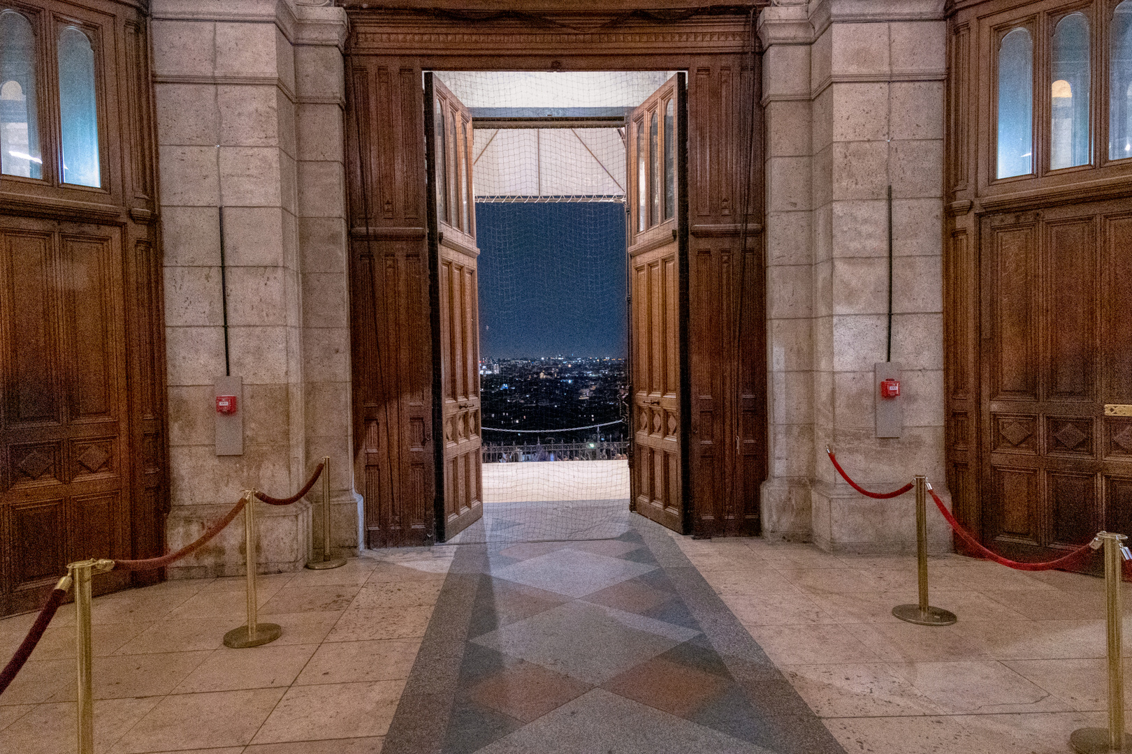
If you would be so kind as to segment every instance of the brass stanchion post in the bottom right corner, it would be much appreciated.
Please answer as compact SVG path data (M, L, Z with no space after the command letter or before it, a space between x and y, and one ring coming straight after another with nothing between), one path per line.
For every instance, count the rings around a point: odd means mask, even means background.
M1122 543L1127 539L1122 534L1101 531L1094 543L1105 545L1105 592L1107 601L1108 631L1108 727L1078 728L1070 737L1070 746L1079 754L1100 752L1132 752L1132 736L1124 733L1124 667L1121 645L1121 572L1123 562L1132 560L1132 554ZM1096 545L1095 545L1096 546Z

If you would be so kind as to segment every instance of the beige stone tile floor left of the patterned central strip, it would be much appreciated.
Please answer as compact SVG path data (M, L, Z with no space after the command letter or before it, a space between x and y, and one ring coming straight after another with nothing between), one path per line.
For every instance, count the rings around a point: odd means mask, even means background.
M94 600L95 751L374 754L452 563L451 547L261 577L260 619L283 635L226 649L245 580L169 581ZM0 621L7 661L34 616ZM74 607L59 610L0 695L0 752L75 747Z

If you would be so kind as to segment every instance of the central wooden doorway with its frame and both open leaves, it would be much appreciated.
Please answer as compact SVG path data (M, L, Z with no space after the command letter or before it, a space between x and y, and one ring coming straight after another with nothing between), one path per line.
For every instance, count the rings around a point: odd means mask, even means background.
M456 19L415 5L346 9L367 546L443 541L482 514L472 122L430 70L681 71L625 120L632 499L678 531L756 534L767 411L749 14L626 19L551 3L577 24L564 35L559 21Z

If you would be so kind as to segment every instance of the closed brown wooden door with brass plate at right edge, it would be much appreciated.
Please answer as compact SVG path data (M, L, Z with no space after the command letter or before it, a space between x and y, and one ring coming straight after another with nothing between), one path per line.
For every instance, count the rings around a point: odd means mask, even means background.
M1132 535L1132 211L984 217L984 536L1049 557Z

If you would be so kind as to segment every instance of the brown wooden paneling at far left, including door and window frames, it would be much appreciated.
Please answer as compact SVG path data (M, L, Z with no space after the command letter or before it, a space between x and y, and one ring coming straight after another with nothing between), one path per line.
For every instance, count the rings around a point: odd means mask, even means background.
M31 0L26 9L41 41L53 40L54 19L76 23L93 40L102 187L58 177L54 61L42 43L43 179L0 176L0 288L11 304L0 304L0 615L35 607L75 553L158 554L168 512L147 17L113 0ZM49 527L51 536L34 523L44 515L59 525ZM33 530L40 534L29 545L24 536ZM48 563L52 574L31 575ZM102 574L94 589L161 578Z

